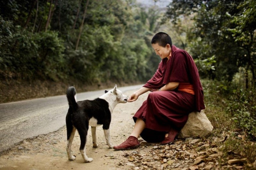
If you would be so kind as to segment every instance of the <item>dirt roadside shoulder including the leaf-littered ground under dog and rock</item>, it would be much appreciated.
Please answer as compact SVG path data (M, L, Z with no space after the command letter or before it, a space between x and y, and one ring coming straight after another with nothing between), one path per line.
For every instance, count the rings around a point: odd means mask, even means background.
M126 92L130 95L133 91ZM131 133L134 126L132 116L138 110L148 93L143 94L132 103L117 104L112 113L110 135L114 145L122 143ZM76 132L72 144L72 154L76 160L69 161L66 153L66 126L50 134L28 138L8 151L0 154L0 169L4 170L41 170L41 169L88 169L88 170L146 170L146 169L253 169L256 161L247 164L244 155L228 152L223 158L219 148L230 134L222 134L223 138L214 135L207 139L176 139L172 144L160 145L141 143L137 149L114 151L106 144L102 126L97 127L99 147L92 148L91 128L88 131L86 154L93 158L84 163L79 151L80 139ZM239 136L237 136L239 137ZM243 136L242 136L243 137ZM240 138L242 139L240 136ZM255 144L255 143L252 143Z

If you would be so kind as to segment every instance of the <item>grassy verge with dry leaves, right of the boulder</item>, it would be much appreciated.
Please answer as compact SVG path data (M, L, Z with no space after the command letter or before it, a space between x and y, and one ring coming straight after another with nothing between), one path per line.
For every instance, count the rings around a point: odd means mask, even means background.
M232 89L227 89L225 86L221 85L220 82L204 80L202 84L205 93L205 113L214 127L212 137L223 138L223 140L217 142L218 149L222 152L219 164L223 165L230 159L246 158L246 162L241 162L241 164L244 164L243 168L251 169L252 164L255 164L256 161L256 143L253 140L255 136L251 135L255 134L255 132L249 131L248 128L232 119L234 114L239 116L243 114L242 112L235 113L236 110L234 109L232 110L233 112L230 112L230 109L228 109L230 103L236 102L236 104L239 104L241 101L234 101L234 97L232 97L234 94L231 92ZM245 99L250 99L251 96L246 96L248 94L254 93L241 93L240 95L243 95ZM252 103L249 105L254 107L255 103L253 103L253 100L251 101ZM241 107L246 109L243 106ZM255 118L253 118L253 120L255 120ZM250 122L247 122L247 124L248 123ZM252 126L253 125L254 124L252 124Z

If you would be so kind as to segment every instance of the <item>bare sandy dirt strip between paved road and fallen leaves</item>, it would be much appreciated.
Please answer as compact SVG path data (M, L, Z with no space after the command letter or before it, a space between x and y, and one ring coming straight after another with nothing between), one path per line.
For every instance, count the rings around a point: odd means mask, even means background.
M132 91L127 92L130 95ZM114 145L123 142L130 134L134 122L132 115L137 111L147 94L136 102L118 104L114 109L110 125L111 139ZM0 169L131 169L125 163L125 154L140 150L114 151L106 144L102 126L97 127L98 148L92 148L91 128L86 143L87 156L93 158L91 163L84 163L79 152L80 139L76 132L72 144L75 161L68 161L66 154L66 127L46 135L26 139L0 156ZM143 144L142 144L143 145ZM143 146L142 146L143 148ZM136 153L136 152L135 152Z

